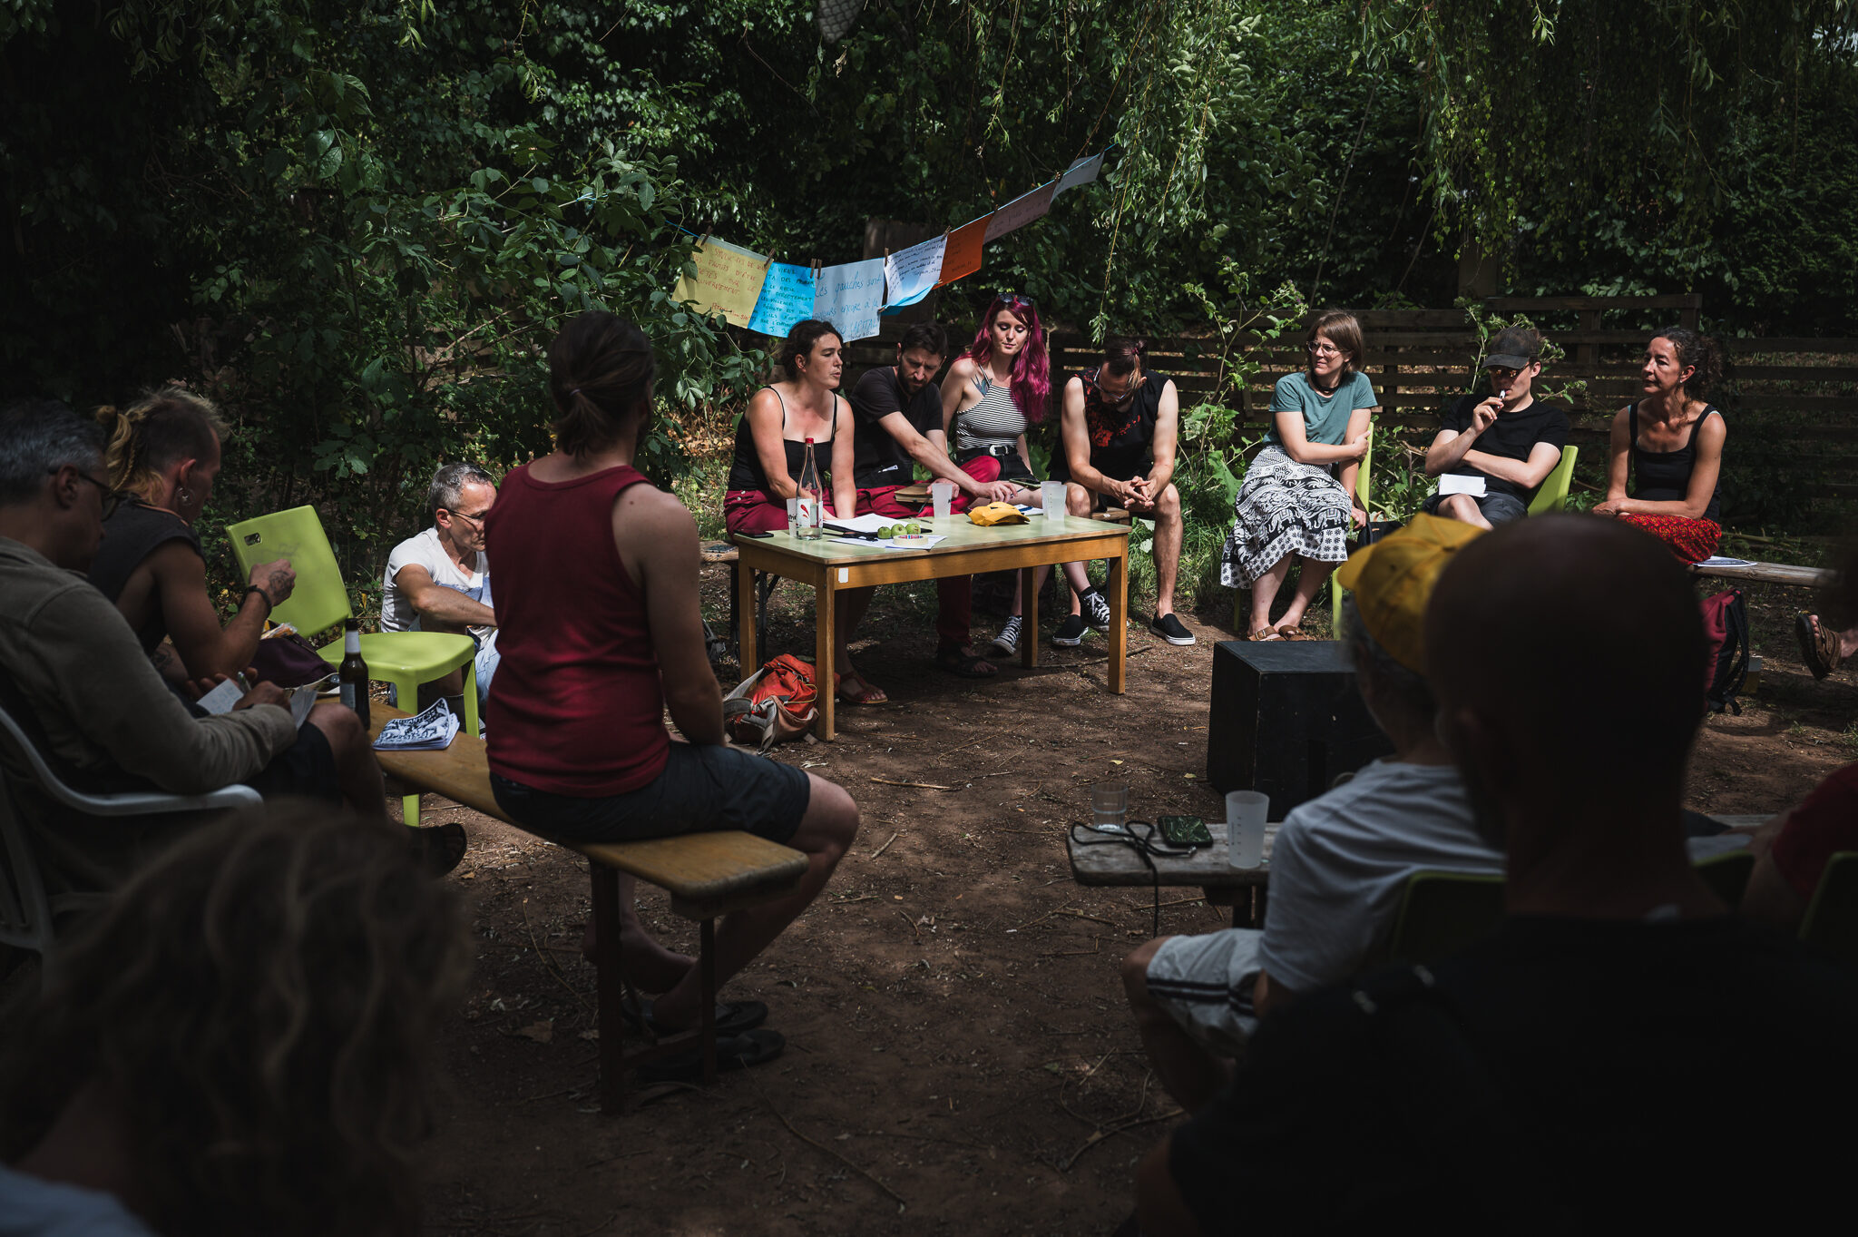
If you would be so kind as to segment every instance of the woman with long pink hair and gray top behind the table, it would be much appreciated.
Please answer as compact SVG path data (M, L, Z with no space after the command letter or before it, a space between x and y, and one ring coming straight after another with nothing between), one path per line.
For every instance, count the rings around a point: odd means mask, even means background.
M1000 292L981 318L968 351L955 358L942 379L942 433L955 444L955 462L977 481L1011 481L1013 503L1039 503L1039 477L1026 451L1026 427L1044 420L1052 394L1052 360L1046 355L1044 327L1033 299L1018 292ZM1044 587L1048 566L1037 568L1033 587ZM1066 563L1065 578L1078 592L1089 626L1109 628L1109 602L1091 585L1083 563ZM992 650L1011 658L1020 646L1020 591L1013 591L1013 609ZM1052 633L1053 645L1074 648L1083 643L1085 620L1065 618ZM1037 633L1033 633L1037 639Z

